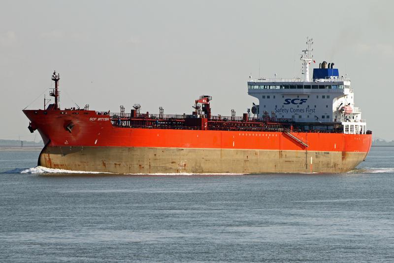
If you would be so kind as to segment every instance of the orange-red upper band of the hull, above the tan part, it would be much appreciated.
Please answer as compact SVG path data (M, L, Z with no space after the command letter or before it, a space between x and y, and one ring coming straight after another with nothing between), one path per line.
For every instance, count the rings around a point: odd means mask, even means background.
M248 150L305 150L283 132L183 130L114 127L108 116L94 111L25 110L48 146L149 147ZM66 126L72 121L72 132ZM371 134L295 133L309 151L364 152Z

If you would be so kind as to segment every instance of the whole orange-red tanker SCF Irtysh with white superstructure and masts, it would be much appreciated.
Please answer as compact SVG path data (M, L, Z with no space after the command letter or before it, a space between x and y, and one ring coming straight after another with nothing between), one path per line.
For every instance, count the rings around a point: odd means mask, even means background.
M45 143L38 165L119 174L350 171L367 156L372 132L334 63L319 63L310 79L312 44L302 50L302 77L249 77L248 94L259 103L241 116L213 115L208 95L191 114L141 113L139 104L119 113L61 109L54 72L54 103L23 111Z

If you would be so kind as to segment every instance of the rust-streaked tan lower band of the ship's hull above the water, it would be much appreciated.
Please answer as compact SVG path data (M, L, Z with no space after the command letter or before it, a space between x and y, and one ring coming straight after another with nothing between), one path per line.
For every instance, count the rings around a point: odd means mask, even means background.
M146 147L45 147L38 165L48 168L151 173L342 173L367 152Z

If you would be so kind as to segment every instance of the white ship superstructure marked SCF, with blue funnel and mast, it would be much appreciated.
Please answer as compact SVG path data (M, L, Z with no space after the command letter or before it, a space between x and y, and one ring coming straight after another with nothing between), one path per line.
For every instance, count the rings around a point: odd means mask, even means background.
M361 119L361 109L355 107L350 79L339 76L334 64L324 61L314 69L310 80L312 43L308 39L307 48L302 50L303 79L249 79L248 94L259 99L258 111L254 112L259 118L265 113L279 121L291 119L305 125L342 124L344 133L365 134L366 123Z

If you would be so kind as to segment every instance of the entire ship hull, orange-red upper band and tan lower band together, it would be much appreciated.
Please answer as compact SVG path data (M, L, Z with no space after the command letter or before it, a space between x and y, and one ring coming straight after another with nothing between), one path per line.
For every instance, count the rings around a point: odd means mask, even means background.
M341 173L372 142L371 134L131 128L93 111L24 112L46 145L38 164L75 171Z

